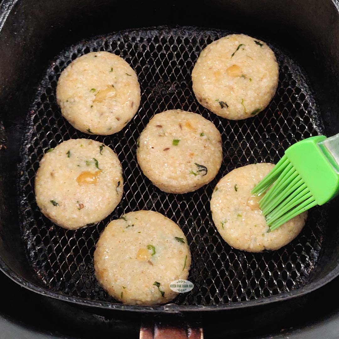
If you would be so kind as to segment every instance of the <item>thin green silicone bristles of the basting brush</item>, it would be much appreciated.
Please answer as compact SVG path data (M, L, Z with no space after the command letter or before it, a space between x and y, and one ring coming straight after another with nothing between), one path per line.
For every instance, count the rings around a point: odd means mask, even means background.
M259 201L259 207L271 231L317 204L285 155L252 190L257 196L265 192L265 196Z

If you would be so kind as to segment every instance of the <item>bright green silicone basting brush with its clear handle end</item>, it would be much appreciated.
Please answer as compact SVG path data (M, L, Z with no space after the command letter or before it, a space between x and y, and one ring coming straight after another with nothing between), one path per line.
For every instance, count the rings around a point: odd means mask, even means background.
M285 155L251 191L273 231L315 205L339 193L339 134L307 138L287 148Z

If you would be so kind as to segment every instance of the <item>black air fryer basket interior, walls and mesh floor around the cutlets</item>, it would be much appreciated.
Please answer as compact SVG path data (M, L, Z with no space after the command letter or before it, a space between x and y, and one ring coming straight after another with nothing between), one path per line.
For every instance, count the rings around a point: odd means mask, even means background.
M46 292L48 295L64 300L83 302L80 297L91 299L86 304L95 306L172 311L201 309L195 305L222 309L279 300L310 291L337 275L335 201L312 210L302 234L291 244L264 254L232 250L225 244L215 232L208 203L216 182L233 168L276 162L283 149L296 140L338 132L334 96L339 74L338 13L334 3L210 1L192 7L188 2L58 1L47 5L43 1L8 1L2 4L2 20L6 5L13 8L0 34L0 43L8 46L0 55L1 119L7 138L0 159L0 255L8 275L38 292L50 288L53 292ZM107 34L158 24L211 29L136 29ZM190 72L197 55L228 31L273 44L280 82L266 115L239 122L219 119L192 95ZM78 43L96 35L99 37ZM91 136L115 149L127 179L122 203L111 218L147 208L180 224L191 245L190 280L196 284L192 294L175 300L180 306L140 308L110 303L114 301L96 284L92 266L94 244L109 219L96 227L66 232L43 218L34 201L34 173L45 149L61 140L86 137L60 115L55 103L57 77L72 59L99 50L112 51L130 62L142 87L139 112L122 132ZM217 178L183 196L159 191L140 173L135 161L135 141L149 118L171 108L199 112L223 134L224 161ZM139 190L131 188L134 181Z

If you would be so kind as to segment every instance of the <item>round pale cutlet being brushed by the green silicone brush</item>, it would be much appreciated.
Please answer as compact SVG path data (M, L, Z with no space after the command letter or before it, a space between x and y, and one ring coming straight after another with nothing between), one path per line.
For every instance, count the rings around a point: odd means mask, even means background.
M232 247L247 252L278 250L292 241L305 225L307 212L267 232L265 218L258 205L253 204L251 190L273 167L274 164L258 163L236 168L215 187L212 218L220 235Z

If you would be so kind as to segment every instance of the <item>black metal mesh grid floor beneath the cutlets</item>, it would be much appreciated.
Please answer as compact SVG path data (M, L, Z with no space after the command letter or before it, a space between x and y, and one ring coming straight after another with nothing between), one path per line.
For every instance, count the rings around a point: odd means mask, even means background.
M305 285L316 267L326 224L326 207L310 211L301 234L274 252L246 253L233 249L214 227L209 200L216 183L235 167L277 162L292 143L322 132L319 110L300 67L274 45L280 66L277 93L258 116L230 121L198 104L191 72L200 51L225 31L154 28L125 31L82 41L67 48L48 67L28 114L22 147L22 237L33 270L47 288L63 295L115 302L98 285L93 268L95 243L105 225L123 213L140 209L160 212L177 222L192 253L190 293L173 302L220 305L277 295ZM123 57L135 69L141 105L134 119L112 136L88 136L62 116L55 89L61 71L75 58L92 51ZM156 188L140 171L136 140L149 119L165 109L202 114L219 129L224 159L217 177L196 192L174 195ZM112 147L122 163L124 195L116 210L96 226L66 231L39 211L34 177L46 149L70 138L91 138Z

